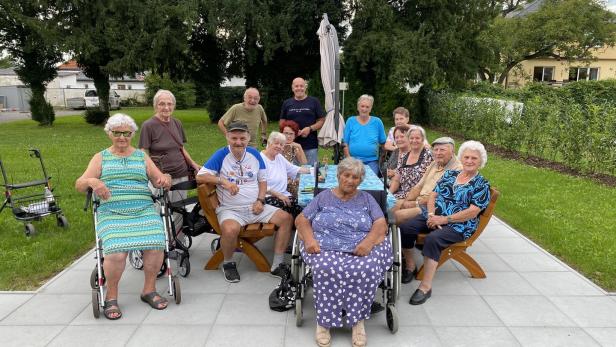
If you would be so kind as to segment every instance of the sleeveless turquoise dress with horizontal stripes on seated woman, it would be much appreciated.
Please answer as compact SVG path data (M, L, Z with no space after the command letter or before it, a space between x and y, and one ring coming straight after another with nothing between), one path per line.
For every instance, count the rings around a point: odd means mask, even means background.
M111 191L111 198L101 200L97 215L103 253L163 250L163 223L148 189L144 153L136 149L128 157L117 157L105 149L101 154L101 180Z

